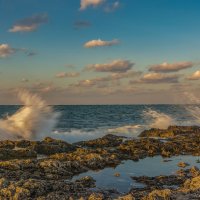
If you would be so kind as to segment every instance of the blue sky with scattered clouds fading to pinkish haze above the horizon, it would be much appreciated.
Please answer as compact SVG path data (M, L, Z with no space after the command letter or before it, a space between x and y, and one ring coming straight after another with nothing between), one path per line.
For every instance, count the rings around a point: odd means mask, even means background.
M200 89L199 0L0 0L0 104L179 104ZM190 95L191 96L191 95Z

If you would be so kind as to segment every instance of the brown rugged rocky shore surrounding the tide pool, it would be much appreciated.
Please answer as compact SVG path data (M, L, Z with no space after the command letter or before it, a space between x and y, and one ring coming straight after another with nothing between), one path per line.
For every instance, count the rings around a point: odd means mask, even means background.
M77 174L116 167L124 160L178 155L200 156L200 127L150 129L138 138L109 134L74 144L49 137L43 141L0 141L0 199L200 199L198 163L190 169L179 163L181 169L170 176L131 177L144 187L133 187L127 194L97 189L95 180L88 176L72 181Z

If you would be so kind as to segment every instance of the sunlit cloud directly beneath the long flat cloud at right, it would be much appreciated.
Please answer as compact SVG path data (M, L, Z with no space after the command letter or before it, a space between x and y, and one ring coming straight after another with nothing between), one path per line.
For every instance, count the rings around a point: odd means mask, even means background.
M178 78L178 75L149 73L143 75L138 81L130 81L130 83L177 83Z

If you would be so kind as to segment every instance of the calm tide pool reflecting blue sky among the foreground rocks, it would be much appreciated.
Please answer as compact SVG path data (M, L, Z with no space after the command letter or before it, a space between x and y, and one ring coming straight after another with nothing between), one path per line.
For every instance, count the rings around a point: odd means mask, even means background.
M116 168L105 168L99 171L88 171L78 176L74 176L73 180L84 176L92 176L96 180L96 187L101 189L117 189L121 193L128 192L132 187L143 187L143 184L137 183L131 179L131 176L159 176L175 174L180 167L179 162L190 164L186 168L192 166L200 167L197 163L197 156L176 156L163 159L161 156L153 158L145 158L138 162L124 161ZM185 168L185 169L186 169ZM115 176L119 173L120 176Z

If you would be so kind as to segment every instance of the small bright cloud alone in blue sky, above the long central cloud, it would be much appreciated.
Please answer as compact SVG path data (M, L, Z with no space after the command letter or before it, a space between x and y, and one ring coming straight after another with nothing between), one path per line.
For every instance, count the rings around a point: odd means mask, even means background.
M113 46L119 44L119 40L115 39L115 40L111 40L111 41L105 41L105 40L91 40L88 41L84 44L85 48L93 48L93 47L103 47L103 46Z

